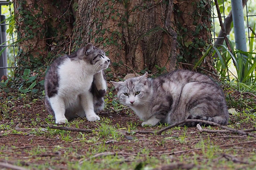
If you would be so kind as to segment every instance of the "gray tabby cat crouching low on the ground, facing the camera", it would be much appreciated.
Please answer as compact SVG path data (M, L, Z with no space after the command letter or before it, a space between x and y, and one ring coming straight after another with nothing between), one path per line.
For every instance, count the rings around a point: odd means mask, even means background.
M227 125L229 120L222 89L203 74L177 70L151 79L146 73L111 83L118 91L119 101L143 119L142 126L159 122L172 125L184 119Z

